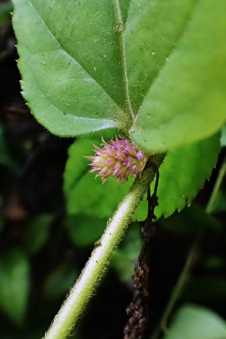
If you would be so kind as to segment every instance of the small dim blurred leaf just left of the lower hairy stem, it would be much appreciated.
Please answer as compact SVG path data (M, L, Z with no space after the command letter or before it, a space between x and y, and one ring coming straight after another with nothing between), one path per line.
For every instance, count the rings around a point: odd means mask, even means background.
M62 264L50 273L46 279L43 291L50 298L58 298L69 291L78 276L77 270L69 264Z

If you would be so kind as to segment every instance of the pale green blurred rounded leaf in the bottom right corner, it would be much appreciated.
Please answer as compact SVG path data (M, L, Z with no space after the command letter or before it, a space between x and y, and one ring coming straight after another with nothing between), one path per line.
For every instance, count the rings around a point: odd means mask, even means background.
M185 305L180 308L164 339L220 339L226 337L226 322L210 309Z

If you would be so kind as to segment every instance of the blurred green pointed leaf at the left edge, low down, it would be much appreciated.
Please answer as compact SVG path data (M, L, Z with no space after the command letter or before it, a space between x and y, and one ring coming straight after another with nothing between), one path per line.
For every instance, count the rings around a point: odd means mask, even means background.
M30 287L29 262L13 249L0 258L0 307L16 324L24 320Z

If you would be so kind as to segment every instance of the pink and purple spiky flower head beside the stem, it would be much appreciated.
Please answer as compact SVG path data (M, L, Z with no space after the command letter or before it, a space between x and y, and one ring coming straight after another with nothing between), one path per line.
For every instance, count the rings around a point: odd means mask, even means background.
M148 156L133 141L119 137L120 139L116 137L116 141L111 139L108 143L102 138L103 149L93 145L95 156L85 157L91 160L89 165L93 168L90 172L97 173L96 177L101 175L102 183L109 176L124 183L130 174L133 177L141 175L148 160Z

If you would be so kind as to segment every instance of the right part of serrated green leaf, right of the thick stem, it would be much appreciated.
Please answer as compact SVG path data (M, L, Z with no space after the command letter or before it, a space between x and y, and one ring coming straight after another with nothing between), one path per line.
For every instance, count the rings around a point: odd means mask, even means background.
M167 217L176 209L191 203L198 190L209 179L219 152L219 133L205 140L169 152L159 170L155 214ZM152 184L153 187L154 183ZM134 219L145 220L147 201L140 203Z

